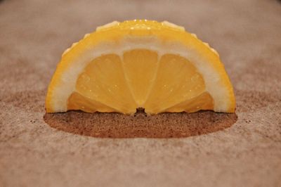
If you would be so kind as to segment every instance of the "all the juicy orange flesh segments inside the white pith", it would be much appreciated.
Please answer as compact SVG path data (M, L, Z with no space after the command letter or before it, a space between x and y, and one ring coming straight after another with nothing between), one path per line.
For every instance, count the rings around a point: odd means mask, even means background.
M92 60L77 79L67 110L134 113L213 110L204 79L187 59L134 49Z

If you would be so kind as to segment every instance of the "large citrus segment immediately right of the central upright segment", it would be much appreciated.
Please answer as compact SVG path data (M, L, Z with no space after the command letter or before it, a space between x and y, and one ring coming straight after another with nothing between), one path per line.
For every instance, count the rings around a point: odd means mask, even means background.
M144 108L147 112L162 112L204 91L204 79L194 65L181 56L165 54L159 60L157 77Z

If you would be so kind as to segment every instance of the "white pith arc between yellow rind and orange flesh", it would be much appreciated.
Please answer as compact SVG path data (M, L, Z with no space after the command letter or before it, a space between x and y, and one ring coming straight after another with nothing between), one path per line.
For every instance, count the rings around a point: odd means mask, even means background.
M107 41L88 51L84 51L78 59L73 59L74 62L70 63L71 65L61 75L59 85L55 86L51 97L52 110L56 112L67 111L67 99L75 91L77 78L91 60L109 53L115 53L122 58L125 51L133 49L156 51L159 59L163 54L173 53L190 60L204 78L206 91L214 99L214 110L218 112L228 110L230 105L228 89L223 85L215 68L194 49L189 49L187 46L176 42L163 43L157 37L126 37L122 41Z

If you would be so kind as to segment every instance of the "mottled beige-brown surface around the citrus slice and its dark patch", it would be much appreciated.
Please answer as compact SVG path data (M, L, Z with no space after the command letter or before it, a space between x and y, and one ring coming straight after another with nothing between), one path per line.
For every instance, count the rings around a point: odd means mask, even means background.
M237 122L188 138L93 138L44 122L63 51L112 20L169 20L221 54ZM0 186L281 186L281 3L1 1Z

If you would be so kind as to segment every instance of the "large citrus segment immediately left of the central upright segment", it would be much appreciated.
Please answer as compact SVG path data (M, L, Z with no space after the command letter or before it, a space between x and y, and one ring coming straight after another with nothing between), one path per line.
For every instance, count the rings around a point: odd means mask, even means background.
M136 112L137 105L126 83L122 61L115 54L92 60L79 75L76 91L117 111Z

